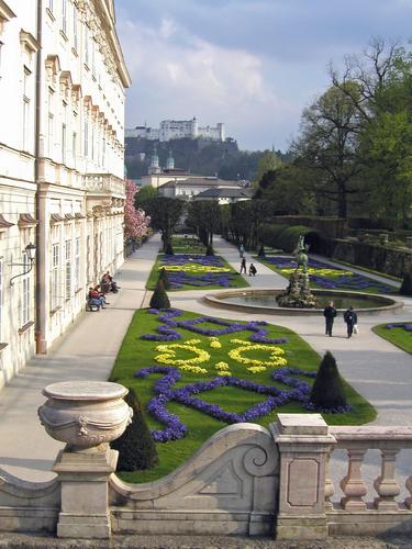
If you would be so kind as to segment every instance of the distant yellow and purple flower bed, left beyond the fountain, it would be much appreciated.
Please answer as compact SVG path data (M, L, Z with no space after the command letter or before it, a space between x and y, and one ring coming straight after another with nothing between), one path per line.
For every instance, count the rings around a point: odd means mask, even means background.
M219 256L200 254L160 255L152 270L147 288L154 289L159 269L167 271L170 290L197 288L244 288L247 282Z

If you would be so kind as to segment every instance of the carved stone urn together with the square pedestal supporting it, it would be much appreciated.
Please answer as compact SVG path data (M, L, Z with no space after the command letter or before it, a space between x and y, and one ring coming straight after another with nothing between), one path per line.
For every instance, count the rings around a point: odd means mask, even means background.
M109 442L120 437L133 411L123 401L127 389L103 381L54 383L38 416L48 435L66 442L53 470L62 489L57 536L105 539L111 536L109 477L118 452Z

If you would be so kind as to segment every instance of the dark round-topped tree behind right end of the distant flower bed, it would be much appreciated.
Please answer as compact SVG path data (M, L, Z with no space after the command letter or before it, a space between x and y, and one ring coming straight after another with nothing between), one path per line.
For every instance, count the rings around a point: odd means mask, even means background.
M216 200L196 200L189 204L187 224L207 247L213 246L213 234L221 228L221 209Z

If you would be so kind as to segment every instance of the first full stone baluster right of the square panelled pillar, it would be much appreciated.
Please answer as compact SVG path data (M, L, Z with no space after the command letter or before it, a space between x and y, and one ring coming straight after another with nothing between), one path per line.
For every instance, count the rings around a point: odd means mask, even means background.
M347 474L341 482L342 491L345 494L341 500L341 505L346 511L361 511L366 508L363 496L367 490L361 479L361 463L365 453L366 448L352 447L350 445L347 447Z

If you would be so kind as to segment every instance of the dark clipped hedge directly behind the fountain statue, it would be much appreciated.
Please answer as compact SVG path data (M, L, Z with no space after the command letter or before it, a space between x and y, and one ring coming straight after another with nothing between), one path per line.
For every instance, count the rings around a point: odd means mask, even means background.
M318 251L320 246L320 234L304 225L276 225L264 224L260 239L265 246L281 248L289 254L297 247L299 236L304 235L304 243L309 244L311 251Z

